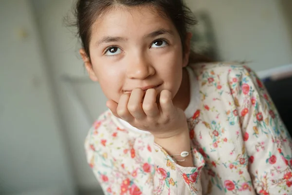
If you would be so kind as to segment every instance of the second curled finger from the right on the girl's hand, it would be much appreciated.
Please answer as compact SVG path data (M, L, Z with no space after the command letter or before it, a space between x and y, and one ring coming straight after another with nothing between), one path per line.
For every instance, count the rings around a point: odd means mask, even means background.
M142 104L143 111L147 117L158 117L159 109L156 103L157 91L155 89L148 89Z

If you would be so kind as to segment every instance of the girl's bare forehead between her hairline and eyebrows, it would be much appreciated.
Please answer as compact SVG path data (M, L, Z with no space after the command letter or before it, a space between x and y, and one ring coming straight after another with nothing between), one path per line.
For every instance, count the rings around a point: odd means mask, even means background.
M116 6L105 12L92 25L92 36L145 35L158 28L176 31L173 23L153 6Z

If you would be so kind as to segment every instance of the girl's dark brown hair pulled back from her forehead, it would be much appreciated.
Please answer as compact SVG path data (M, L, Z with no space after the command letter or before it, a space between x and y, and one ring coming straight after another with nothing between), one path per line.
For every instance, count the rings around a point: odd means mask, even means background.
M78 37L81 39L82 47L84 48L88 58L90 59L89 43L91 39L91 27L94 21L105 14L114 6L153 6L159 11L162 17L169 18L176 27L185 50L186 34L192 25L195 25L195 20L191 10L185 6L183 0L77 0L74 9ZM195 55L191 52L190 63L198 61L209 61L209 59Z

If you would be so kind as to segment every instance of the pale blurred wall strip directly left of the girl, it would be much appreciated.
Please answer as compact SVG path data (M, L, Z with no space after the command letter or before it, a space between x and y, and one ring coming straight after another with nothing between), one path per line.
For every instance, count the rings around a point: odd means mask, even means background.
M70 148L70 160L80 191L98 188L97 180L86 162L84 140L93 118L106 109L106 99L97 83L88 78L75 38L76 30L67 27L64 18L71 16L73 0L33 0L37 25L44 45L46 61L53 75L62 129ZM71 17L72 18L72 17ZM75 78L66 80L64 76ZM78 79L81 78L81 79ZM80 99L76 98L76 95ZM90 112L90 121L83 107Z

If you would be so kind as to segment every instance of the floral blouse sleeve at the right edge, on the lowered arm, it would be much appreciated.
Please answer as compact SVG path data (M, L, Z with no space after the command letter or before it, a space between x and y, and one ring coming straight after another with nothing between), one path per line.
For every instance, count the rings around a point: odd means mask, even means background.
M245 67L231 83L253 185L260 195L292 193L292 140L265 87Z

